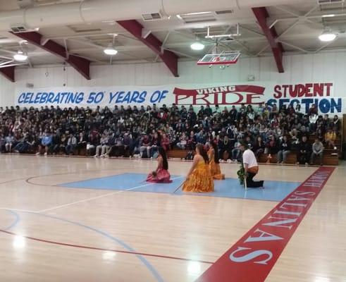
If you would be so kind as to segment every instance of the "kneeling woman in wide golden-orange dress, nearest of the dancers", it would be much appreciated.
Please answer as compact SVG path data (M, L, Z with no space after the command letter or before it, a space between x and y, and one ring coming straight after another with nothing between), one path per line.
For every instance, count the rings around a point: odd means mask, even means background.
M213 192L214 180L209 168L209 159L203 145L196 147L196 154L183 185L185 192Z

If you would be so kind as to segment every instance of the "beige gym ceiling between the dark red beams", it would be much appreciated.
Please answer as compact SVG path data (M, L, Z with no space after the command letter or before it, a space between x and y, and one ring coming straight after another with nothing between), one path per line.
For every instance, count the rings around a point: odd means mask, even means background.
M35 6L79 2L73 0L32 0ZM145 0L142 0L143 3ZM188 0L187 0L188 1ZM19 9L18 0L0 0L0 11ZM256 1L254 1L255 3ZM275 27L278 33L278 42L283 44L285 54L316 54L321 51L346 49L346 2L337 4L318 4L318 1L309 1L307 4L267 6L268 25ZM190 11L194 13L194 11ZM306 17L304 15L309 15ZM333 14L330 18L323 15ZM144 21L141 17L135 18L146 30L163 42L163 48L173 51L180 60L197 60L204 54L211 52L215 46L214 40L205 39L206 27L210 26L212 35L235 33L236 24L239 24L241 36L233 40L222 42L222 50L240 50L242 56L273 56L268 39L257 23L251 8L240 11L225 11L224 13L203 13L198 15L171 16L170 19ZM330 43L319 41L318 36L324 27L330 27L338 34L337 39ZM154 51L140 42L116 21L104 20L97 23L79 25L61 24L54 27L39 28L44 39L53 39L66 47L68 54L75 54L92 61L92 64L109 65L117 63L154 62L160 61ZM111 59L103 49L115 37L115 47L118 54ZM196 37L206 44L203 51L192 51L190 44ZM19 49L20 38L10 32L0 32L0 56L11 58ZM62 64L63 59L54 56L32 44L27 44L29 60L20 68Z

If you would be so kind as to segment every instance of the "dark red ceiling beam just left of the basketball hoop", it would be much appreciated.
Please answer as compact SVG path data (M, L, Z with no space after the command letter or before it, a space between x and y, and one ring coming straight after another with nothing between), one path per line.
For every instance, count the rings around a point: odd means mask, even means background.
M154 36L152 33L148 35L146 38L142 37L143 26L137 22L137 20L119 20L117 22L121 25L125 30L128 30L132 35L134 35L137 39L140 39L142 43L147 45L156 55L159 55L160 59L163 63L166 64L168 69L173 73L175 77L178 77L178 56L175 55L172 51L161 50L162 42Z

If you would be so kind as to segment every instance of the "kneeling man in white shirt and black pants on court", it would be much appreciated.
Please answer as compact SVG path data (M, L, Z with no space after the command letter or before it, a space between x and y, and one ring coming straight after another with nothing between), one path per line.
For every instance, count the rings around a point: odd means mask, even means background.
M240 145L240 150L243 152L242 154L242 162L245 169L247 187L248 188L263 188L264 181L254 181L254 176L259 172L259 165L257 164L257 159L254 156L254 152L249 149L248 145L242 143Z

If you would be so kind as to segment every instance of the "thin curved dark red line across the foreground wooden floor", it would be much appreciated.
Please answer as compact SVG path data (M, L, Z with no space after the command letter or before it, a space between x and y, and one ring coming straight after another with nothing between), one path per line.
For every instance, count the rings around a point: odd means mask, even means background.
M147 254L145 252L130 252L130 251L124 251L124 250L111 250L111 249L104 249L101 247L89 247L89 246L83 246L83 245L74 245L74 244L69 244L69 243L61 243L61 242L56 242L56 241L51 241L51 240L45 240L45 239L39 239L39 238L34 238L34 237L30 237L30 236L23 236L23 235L19 235L10 231L5 231L5 230L1 230L1 233L6 233L9 235L15 235L15 236L21 236L23 238L26 238L28 240L34 240L37 242L42 242L42 243L49 243L52 245L60 245L60 246L66 246L66 247L79 247L81 249L87 249L87 250L99 250L99 251L108 251L108 252L119 252L122 254L128 254L128 255L141 255L143 257L159 257L161 259L175 259L175 260L182 260L185 262L200 262L202 264L213 264L214 262L206 262L203 260L197 260L197 259L185 259L183 257L170 257L170 256L165 256L165 255L153 255L153 254Z

